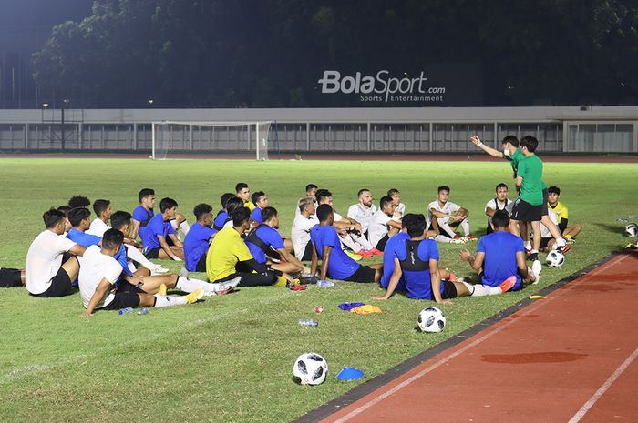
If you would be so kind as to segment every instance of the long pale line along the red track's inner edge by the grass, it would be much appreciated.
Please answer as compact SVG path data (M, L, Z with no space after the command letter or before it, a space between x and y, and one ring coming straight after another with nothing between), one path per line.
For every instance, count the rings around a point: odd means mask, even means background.
M601 271L601 269L607 270L608 268L614 267L618 263L622 262L626 257L627 256L621 257L617 261L613 262L612 265L610 265L609 267L605 268L604 265L601 266L601 267L596 267L595 269L593 269L591 272L587 273L586 275L578 277L578 279L581 279L581 281L583 281L583 280L589 279L591 277L594 277ZM572 284L567 285L567 287L571 287L571 286L573 286L573 285ZM563 293L568 291L568 289L562 289L562 288L563 287L559 288L556 291L553 291L551 293L552 294L551 299L556 299L557 297L561 297L561 295L563 295ZM548 299L550 299L550 298L548 298ZM354 418L355 416L357 416L357 415L361 414L362 412L364 412L367 408L370 408L370 407L374 406L376 403L378 403L378 402L384 400L385 398L395 394L400 389L406 388L406 386L410 385L412 382L414 382L418 378L423 378L425 375L427 375L427 373L431 372L435 368L440 367L442 364L447 363L452 358L458 357L459 355L461 355L464 352L466 352L468 349L470 349L472 347L476 347L478 344L482 343L484 340L488 339L489 337L492 337L493 335L498 334L504 328L509 327L509 325L511 325L512 323L518 321L520 317L523 317L523 316L525 316L527 314L530 314L532 311L536 311L538 308L540 308L540 307L542 307L542 306L544 306L545 304L548 304L548 303L549 303L549 301L543 301L543 302L540 302L540 303L536 303L536 306L534 306L534 307L526 307L525 311L522 314L520 314L519 316L512 318L509 322L503 324L500 327L497 327L496 329L494 329L491 332L483 335L482 337L479 337L478 339L476 339L473 342L469 343L465 347L462 347L462 348L458 349L457 351L453 352L452 354L449 354L448 356L439 359L436 363L434 363L430 367L425 368L424 370L421 370L420 372L418 372L413 377L408 378L408 379L404 380L403 382L401 382L400 384L396 385L395 388L392 388L392 389L390 389L390 390L388 390L388 391L386 391L386 392L384 392L382 394L379 394L377 397L370 399L369 401L365 402L365 404L361 405L359 408L355 408L354 410L350 411L343 418L339 418L338 420L334 420L334 423L345 423L349 419ZM576 420L576 421L578 421L578 420ZM570 423L572 423L572 422L570 422Z

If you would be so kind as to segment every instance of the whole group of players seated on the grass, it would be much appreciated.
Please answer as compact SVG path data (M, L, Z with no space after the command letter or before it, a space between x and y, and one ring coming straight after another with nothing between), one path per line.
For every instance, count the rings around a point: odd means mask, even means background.
M581 227L568 226L560 189L551 186L548 191L551 221L573 242ZM251 196L244 183L235 186L234 194L221 196L214 217L211 205L195 206L192 225L169 197L161 199L155 213L155 192L149 188L139 191L139 206L132 214L113 213L108 200L94 201L93 219L90 201L74 196L68 205L45 212L46 230L31 244L26 268L0 269L0 286L26 285L36 297L62 297L79 287L85 316L90 316L98 308L166 307L234 287L294 286L327 277L380 283L386 294L376 299L405 291L407 297L437 302L496 295L520 289L523 281L538 282L540 263L531 269L526 265L530 240L524 243L510 233L513 202L505 184L496 187L485 207L487 235L480 238L476 254L460 251L461 259L478 272L477 283L438 267L437 242L477 239L470 234L468 209L450 202L449 193L448 186L439 186L437 200L424 215L406 214L396 189L381 197L378 209L370 190L361 189L357 203L342 216L334 210L329 190L309 184L295 207L291 239L278 232L278 212L269 206L268 196L262 191ZM551 248L555 240L547 227L542 229L540 247ZM384 256L383 263L357 263L375 256ZM185 269L169 274L149 259L183 260ZM208 281L189 278L188 272L205 272ZM168 296L170 288L187 295Z

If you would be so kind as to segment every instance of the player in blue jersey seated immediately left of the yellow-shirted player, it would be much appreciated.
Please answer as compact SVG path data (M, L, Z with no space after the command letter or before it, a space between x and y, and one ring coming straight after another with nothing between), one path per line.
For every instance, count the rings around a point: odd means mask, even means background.
M212 206L198 204L193 209L197 219L184 238L184 265L189 272L206 271L206 253L217 230L212 229Z

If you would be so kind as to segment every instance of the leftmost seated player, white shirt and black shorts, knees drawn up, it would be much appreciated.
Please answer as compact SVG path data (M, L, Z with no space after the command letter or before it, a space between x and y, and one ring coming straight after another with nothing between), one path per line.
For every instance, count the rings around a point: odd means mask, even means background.
M42 215L46 230L34 239L26 253L26 290L36 297L64 297L73 293L71 282L79 272L85 247L64 236L67 217L54 208ZM65 253L67 255L65 260Z

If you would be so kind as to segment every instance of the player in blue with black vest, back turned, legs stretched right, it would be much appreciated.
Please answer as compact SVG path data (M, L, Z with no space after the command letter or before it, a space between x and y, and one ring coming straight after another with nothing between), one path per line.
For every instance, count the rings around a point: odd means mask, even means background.
M386 294L374 299L387 299L394 294L401 277L405 279L408 298L431 299L438 304L448 304L449 298L497 295L511 287L512 282L501 287L472 286L463 281L448 281L449 272L438 267L437 242L427 239L426 217L407 214L403 224L409 239L397 243L394 251L394 270Z

